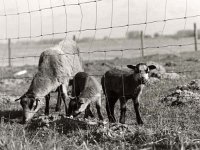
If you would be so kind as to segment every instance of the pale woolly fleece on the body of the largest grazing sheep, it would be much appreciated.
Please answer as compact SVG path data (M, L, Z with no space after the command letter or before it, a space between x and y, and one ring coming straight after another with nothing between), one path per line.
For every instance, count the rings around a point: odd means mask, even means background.
M68 85L69 78L79 71L83 68L76 42L65 39L41 53L38 72L27 93L44 97L59 85Z

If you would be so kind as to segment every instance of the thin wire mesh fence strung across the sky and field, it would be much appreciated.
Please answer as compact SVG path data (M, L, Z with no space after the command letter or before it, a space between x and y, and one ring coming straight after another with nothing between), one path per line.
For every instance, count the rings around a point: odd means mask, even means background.
M41 1L38 0L38 8L37 9L34 9L34 10L31 10L30 8L30 0L26 0L27 1L27 11L20 11L19 9L19 6L20 6L20 1L18 0L15 0L15 4L16 4L16 13L8 13L6 10L6 4L5 4L5 0L2 0L3 2L3 10L0 11L0 17L4 17L5 18L5 37L0 37L0 41L5 41L5 40L8 40L8 39L11 39L11 40L21 40L21 39L34 39L34 38L43 38L43 37L48 37L48 36L52 36L52 41L54 41L55 39L55 36L56 35L65 35L65 37L68 36L69 33L79 33L78 34L78 40L80 40L80 37L81 37L81 34L83 34L84 32L87 32L87 31L93 31L94 34L92 36L92 40L89 44L89 48L87 51L80 51L80 54L86 54L88 55L88 61L90 60L90 58L92 57L93 54L96 54L96 53L102 53L103 55L105 55L105 53L113 53L113 52L120 52L121 53L121 59L124 58L124 52L129 52L129 51L141 51L142 49L143 50L147 50L147 49L159 49L161 50L162 48L172 48L172 47L187 47L187 46L193 46L195 43L194 42L191 42L191 43L183 43L183 44L167 44L167 45L157 45L157 46L146 46L146 47L137 47L137 48L126 48L126 47L123 47L123 45L121 45L121 48L119 49L107 49L108 45L110 44L110 39L111 39L111 36L113 34L113 30L114 29L120 29L120 28L125 28L126 31L125 33L127 34L129 31L130 31L130 27L133 27L133 26L142 26L144 25L144 34L146 33L146 30L148 28L148 26L150 24L156 24L156 23L163 23L163 27L161 29L161 35L164 35L164 31L166 29L166 25L168 22L171 22L171 21L177 21L177 20L184 20L184 30L186 30L186 24L187 24L187 20L188 19L192 19L192 18L199 18L200 17L200 14L195 14L195 15L188 15L188 1L185 0L185 12L184 12L184 15L181 16L181 17L167 17L167 9L170 7L168 6L168 0L165 0L165 4L164 4L164 13L163 13L163 19L158 19L158 20L149 20L149 14L150 14L150 11L149 11L149 3L150 1L149 0L146 0L145 3L145 21L143 22L138 22L138 23L131 23L130 21L130 18L132 16L131 12L130 12L130 1L127 0L127 16L125 16L125 18L127 18L127 23L125 24L122 24L122 25L115 25L113 23L113 20L114 20L114 4L115 4L115 1L111 1L111 9L110 9L110 24L108 26L105 26L105 27L99 27L98 26L98 18L99 18L99 15L98 15L98 3L101 3L103 0L88 0L88 1L82 1L82 0L78 0L78 1L75 1L74 3L67 3L65 0L62 0L62 4L59 4L59 5L53 5L52 4L52 0L50 0L50 5L49 7L42 7L41 6ZM86 16L84 16L84 13L83 13L83 9L82 7L85 6L85 5L88 5L88 4L94 4L94 8L95 8L95 23L94 23L94 27L92 28L83 28L83 21L85 19ZM79 11L80 11L80 23L79 23L79 29L76 29L76 30L69 30L68 29L68 9L70 7L77 7L79 8ZM54 11L55 9L61 9L61 8L64 8L64 16L65 16L65 31L62 31L62 32L56 32L55 30L55 14L54 14ZM43 20L43 17L44 17L44 14L43 12L46 11L46 10L49 10L51 11L51 32L50 33L44 33L44 27L43 27L43 23L44 23L44 20ZM39 13L39 20L40 20L40 33L39 34L33 34L33 31L32 31L32 27L33 27L33 21L32 21L32 18L33 18L33 14L34 13ZM20 36L20 20L21 20L21 17L23 15L27 14L29 16L29 35L27 36ZM10 16L17 16L17 20L18 20L18 24L17 24L17 36L13 36L13 37L9 37L8 36L8 17ZM93 50L92 51L92 47L93 47L93 44L94 44L94 41L95 41L95 38L96 38L96 34L97 34L97 31L102 31L102 30L109 30L109 34L108 34L108 38L107 40L105 41L105 50L101 50L101 49L96 49L96 50ZM159 40L159 39L158 39ZM181 42L182 43L182 42ZM54 44L52 42L52 44ZM200 43L197 43L198 45ZM67 55L77 55L78 53L65 53ZM26 56L16 56L16 57L11 57L11 58L0 58L0 62L4 62L8 59L11 59L11 60L19 60L19 59L26 59L26 58L33 58L36 60L36 58L39 58L39 55L26 55ZM123 63L123 62L122 62ZM179 71L180 73L183 72L183 71ZM185 71L184 71L185 72ZM189 71L190 72L190 71Z

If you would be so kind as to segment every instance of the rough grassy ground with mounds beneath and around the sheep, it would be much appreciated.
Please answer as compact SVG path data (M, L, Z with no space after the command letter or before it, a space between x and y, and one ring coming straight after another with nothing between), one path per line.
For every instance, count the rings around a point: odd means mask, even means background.
M22 125L21 106L14 100L30 85L35 66L0 68L0 149L200 149L200 53L155 55L138 59L85 61L85 71L100 80L109 66L126 67L138 62L160 66L141 97L143 126L138 126L132 101L128 102L126 125L96 120L75 120L55 113L56 93L51 96L51 114L41 109ZM108 65L105 65L108 64ZM122 64L123 63L123 64ZM27 70L16 76L15 73ZM8 79L8 77L10 79ZM105 122L105 98L102 100ZM96 113L95 109L92 109ZM119 118L119 104L115 109ZM96 122L96 123L95 123Z

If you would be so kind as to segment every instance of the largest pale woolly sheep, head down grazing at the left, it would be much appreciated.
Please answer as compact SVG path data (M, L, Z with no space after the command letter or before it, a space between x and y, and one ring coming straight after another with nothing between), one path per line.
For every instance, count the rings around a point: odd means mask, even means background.
M46 98L45 113L48 113L49 93L55 91L58 87L67 114L67 86L70 78L74 75L74 70L78 70L78 67L81 68L81 64L77 67L72 62L72 60L75 60L73 59L75 56L72 55L74 54L73 43L74 41L67 39L60 42L57 46L41 53L38 71L33 77L28 91L16 100L20 100L23 108L24 123L29 121L42 107L44 98ZM68 51L68 54L63 49ZM73 53L70 53L71 51Z

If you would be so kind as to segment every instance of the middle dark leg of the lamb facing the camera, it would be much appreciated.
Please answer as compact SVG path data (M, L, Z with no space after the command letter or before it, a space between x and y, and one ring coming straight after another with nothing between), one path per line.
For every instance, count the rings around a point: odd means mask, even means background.
M122 124L125 124L125 115L126 115L126 98L125 97L121 97L120 98L120 120L119 122Z

